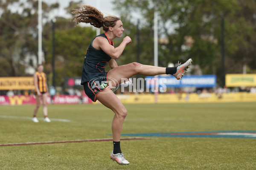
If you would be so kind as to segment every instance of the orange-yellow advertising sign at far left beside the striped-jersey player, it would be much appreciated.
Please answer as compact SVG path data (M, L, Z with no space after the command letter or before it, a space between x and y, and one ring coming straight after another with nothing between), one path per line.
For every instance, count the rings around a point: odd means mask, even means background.
M0 77L0 90L34 89L33 77Z

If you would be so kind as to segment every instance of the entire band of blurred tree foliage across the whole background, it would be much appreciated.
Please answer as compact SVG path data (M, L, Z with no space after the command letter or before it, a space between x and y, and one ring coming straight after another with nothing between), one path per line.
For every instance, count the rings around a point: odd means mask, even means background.
M28 54L38 56L38 1L22 2L0 1L0 76L24 76L23 59ZM70 14L78 3L71 1L67 13ZM255 0L114 0L113 4L124 24L123 37L128 35L132 39L117 59L119 65L137 61L138 18L140 62L154 64L154 11L158 11L159 66L192 58L203 74L220 77L223 18L226 73L241 73L243 65L248 66L247 73L256 72ZM51 11L58 7L58 3L43 3L43 52L45 71L50 75L48 80L52 73L52 23L49 19L53 17ZM65 77L81 76L84 55L95 35L91 27L74 27L70 19L56 18L56 85L64 85ZM122 38L114 40L115 46Z

